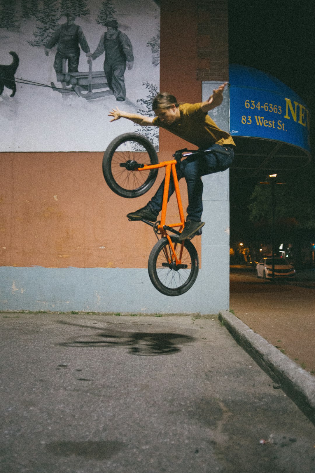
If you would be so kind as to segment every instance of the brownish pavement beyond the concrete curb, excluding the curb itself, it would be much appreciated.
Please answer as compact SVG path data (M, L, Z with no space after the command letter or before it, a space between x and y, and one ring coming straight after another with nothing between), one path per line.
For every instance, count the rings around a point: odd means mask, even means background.
M315 374L315 272L294 281L255 278L252 268L230 274L230 309L255 333Z

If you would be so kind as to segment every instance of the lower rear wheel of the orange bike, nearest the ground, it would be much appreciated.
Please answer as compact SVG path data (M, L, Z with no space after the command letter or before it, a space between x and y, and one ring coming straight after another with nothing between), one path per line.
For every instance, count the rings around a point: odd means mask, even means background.
M148 261L148 272L155 289L165 296L180 296L192 287L199 271L199 258L195 246L178 237L171 236L175 253L180 264L176 264L166 237L161 238L152 248Z

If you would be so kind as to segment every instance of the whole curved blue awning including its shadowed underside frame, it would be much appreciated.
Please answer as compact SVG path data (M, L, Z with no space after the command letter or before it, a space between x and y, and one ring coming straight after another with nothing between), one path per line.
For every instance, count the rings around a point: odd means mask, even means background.
M305 166L310 116L304 101L270 74L230 64L230 134L237 145L231 177Z

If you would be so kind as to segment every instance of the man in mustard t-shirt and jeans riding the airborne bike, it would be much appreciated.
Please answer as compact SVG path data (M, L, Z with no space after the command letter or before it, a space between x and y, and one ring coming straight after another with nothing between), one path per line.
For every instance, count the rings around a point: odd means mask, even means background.
M200 153L182 160L177 166L177 175L185 177L188 191L188 207L185 228L179 241L201 233L204 222L201 221L203 183L201 176L228 169L234 158L235 143L226 131L213 122L207 114L209 110L222 103L223 90L227 82L213 90L208 100L197 104L179 104L176 98L166 92L158 94L152 104L155 117L122 112L117 107L109 116L111 122L127 118L142 126L159 126L198 146ZM206 150L204 152L204 150ZM142 209L128 213L130 220L157 220L162 210L164 181L159 189ZM174 192L173 180L170 181L169 196Z

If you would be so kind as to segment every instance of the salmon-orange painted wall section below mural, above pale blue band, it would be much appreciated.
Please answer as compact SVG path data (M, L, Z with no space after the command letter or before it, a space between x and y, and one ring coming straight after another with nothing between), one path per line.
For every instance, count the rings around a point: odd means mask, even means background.
M0 175L0 266L147 266L153 229L126 214L145 205L162 175L137 199L107 187L102 153L1 153ZM169 215L176 218L175 205Z

